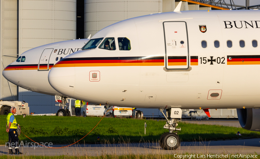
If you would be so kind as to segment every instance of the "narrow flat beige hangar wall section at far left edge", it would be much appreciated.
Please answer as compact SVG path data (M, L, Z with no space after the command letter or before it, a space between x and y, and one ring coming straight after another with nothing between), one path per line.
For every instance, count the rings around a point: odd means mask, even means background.
M18 56L17 0L1 0L0 8L0 99L18 100L18 87L8 83L2 75L4 66L14 62Z

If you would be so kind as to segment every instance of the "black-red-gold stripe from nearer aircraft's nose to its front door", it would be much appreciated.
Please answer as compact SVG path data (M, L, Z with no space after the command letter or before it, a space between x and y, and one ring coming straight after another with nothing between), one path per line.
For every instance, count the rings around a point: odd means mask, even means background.
M164 66L164 56L64 58L53 67Z

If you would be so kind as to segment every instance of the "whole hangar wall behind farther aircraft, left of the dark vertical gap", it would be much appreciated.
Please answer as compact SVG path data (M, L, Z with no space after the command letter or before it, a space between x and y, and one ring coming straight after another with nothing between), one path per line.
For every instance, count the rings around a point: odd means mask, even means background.
M2 76L3 66L23 52L58 41L76 39L77 0L1 0L0 99L29 103L30 112L55 113L53 96L35 93L9 83ZM39 62L36 61L37 64Z

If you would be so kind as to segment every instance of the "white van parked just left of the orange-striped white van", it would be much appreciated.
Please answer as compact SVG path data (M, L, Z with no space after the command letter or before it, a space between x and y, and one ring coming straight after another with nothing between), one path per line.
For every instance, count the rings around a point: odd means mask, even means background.
M81 105L80 114L81 116L103 116L104 111L104 105L86 102L86 104Z

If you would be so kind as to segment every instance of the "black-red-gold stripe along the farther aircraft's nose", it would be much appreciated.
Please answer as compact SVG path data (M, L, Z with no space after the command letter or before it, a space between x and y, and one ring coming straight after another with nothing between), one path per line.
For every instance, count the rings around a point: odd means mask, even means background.
M49 64L49 69L53 67L54 64ZM8 65L4 71L7 70L38 70L38 64L24 64L24 65ZM47 70L47 64L40 64L39 70Z

